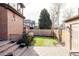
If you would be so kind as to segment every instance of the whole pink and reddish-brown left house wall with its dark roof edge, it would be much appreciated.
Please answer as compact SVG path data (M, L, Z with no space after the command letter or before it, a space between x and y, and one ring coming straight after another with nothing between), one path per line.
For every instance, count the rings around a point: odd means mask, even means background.
M0 4L0 39L18 39L23 33L22 14L6 4ZM15 11L15 12L14 12Z

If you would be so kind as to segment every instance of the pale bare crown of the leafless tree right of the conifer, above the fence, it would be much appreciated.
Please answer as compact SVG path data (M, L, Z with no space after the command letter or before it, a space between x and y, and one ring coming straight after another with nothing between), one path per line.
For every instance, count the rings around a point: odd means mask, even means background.
M55 23L57 22L57 27L59 27L59 16L60 16L60 9L63 7L63 3L53 3L52 10L52 23L53 27L55 26Z

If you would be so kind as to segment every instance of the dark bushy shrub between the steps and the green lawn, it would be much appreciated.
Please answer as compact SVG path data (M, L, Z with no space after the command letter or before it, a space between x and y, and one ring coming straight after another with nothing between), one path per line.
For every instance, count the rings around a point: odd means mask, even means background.
M17 41L17 44L19 44L19 45L25 44L25 46L29 46L30 43L33 41L33 36L30 34L31 33L23 32L22 38L19 41ZM21 45L21 46L23 46L23 45Z

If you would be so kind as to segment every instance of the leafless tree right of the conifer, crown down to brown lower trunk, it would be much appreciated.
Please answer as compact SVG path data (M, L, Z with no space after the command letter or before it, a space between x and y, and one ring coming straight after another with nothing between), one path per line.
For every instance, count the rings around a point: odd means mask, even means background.
M54 32L54 28L58 28L58 39L60 39L60 31L59 31L59 17L60 17L60 9L63 6L63 3L54 3L53 4L53 9L52 9L52 31ZM56 24L55 24L56 23ZM57 25L57 26L55 26Z

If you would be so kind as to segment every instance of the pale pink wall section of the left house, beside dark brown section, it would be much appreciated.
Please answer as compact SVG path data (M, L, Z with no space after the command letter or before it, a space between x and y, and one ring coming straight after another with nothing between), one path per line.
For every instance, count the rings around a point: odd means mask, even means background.
M23 32L23 18L19 17L17 14L7 10L8 17L8 39L19 38ZM15 37L16 36L16 37ZM17 37L18 36L18 37Z

